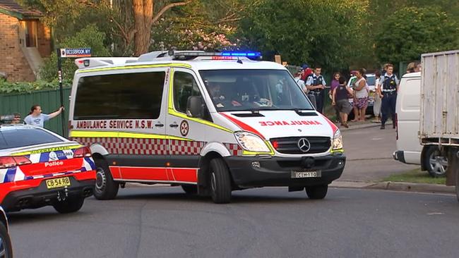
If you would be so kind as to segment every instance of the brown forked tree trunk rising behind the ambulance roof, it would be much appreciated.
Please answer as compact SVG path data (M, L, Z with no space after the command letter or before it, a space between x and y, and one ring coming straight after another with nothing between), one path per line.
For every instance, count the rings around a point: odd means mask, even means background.
M159 12L155 13L155 0L132 0L134 16L134 54L140 56L148 52L152 25L170 8L175 6L185 6L192 0L169 3L163 6Z

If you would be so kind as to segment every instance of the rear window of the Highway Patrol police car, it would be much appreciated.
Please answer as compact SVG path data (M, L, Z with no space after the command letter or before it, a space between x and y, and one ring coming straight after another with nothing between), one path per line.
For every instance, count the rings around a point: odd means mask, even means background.
M37 128L0 130L0 149L42 145L50 142L63 142L63 140Z

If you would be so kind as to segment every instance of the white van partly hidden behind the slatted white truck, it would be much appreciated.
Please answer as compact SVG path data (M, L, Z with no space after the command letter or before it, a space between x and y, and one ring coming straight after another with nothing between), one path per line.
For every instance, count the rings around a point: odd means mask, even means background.
M444 176L448 160L438 147L419 142L419 109L421 102L421 73L407 73L400 80L397 94L397 151L393 158L406 164L421 165L431 176Z

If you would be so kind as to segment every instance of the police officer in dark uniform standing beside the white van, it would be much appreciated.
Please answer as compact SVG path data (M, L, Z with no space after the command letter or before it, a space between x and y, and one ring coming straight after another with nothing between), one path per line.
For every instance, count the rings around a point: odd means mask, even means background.
M383 93L381 129L386 128L386 121L389 116L392 118L392 127L395 128L395 103L397 102L398 85L399 80L397 75L393 74L393 65L389 63L381 82L381 92Z

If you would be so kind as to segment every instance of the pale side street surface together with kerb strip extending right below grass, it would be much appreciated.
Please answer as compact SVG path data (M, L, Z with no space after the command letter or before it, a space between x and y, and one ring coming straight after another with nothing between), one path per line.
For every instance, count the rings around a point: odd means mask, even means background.
M347 164L342 177L333 181L330 187L455 194L454 186L383 181L393 173L402 173L417 166L402 164L391 158L395 150L393 129L386 126L386 130L379 130L379 126L379 123L371 122L350 123L350 128L340 126Z

